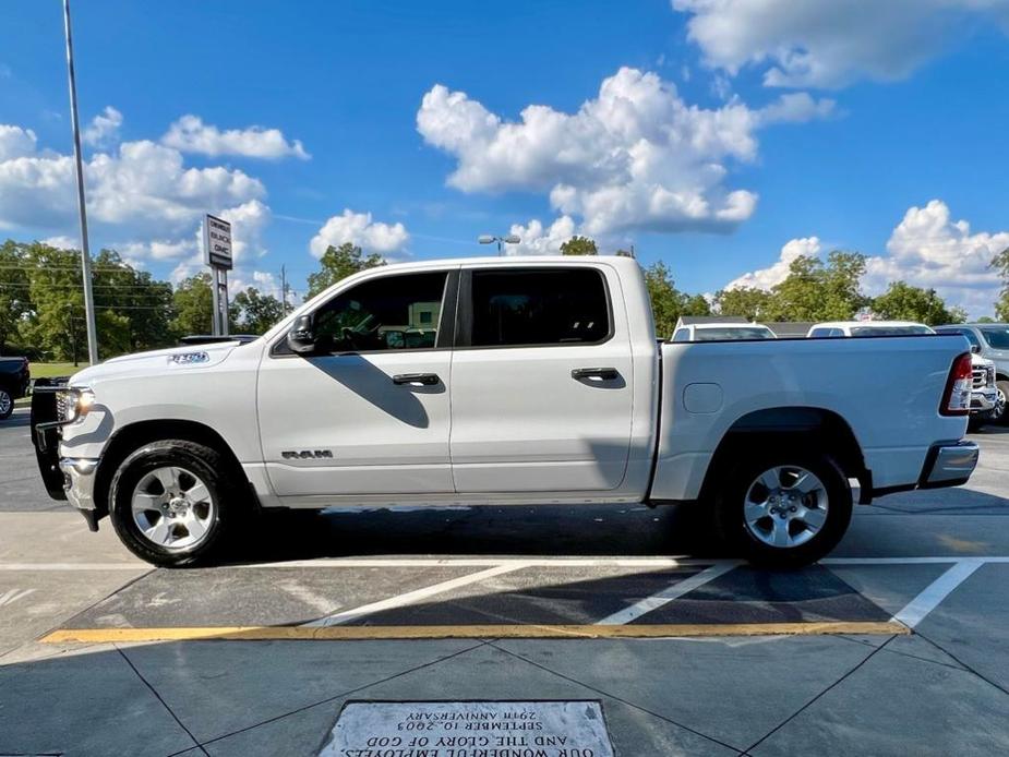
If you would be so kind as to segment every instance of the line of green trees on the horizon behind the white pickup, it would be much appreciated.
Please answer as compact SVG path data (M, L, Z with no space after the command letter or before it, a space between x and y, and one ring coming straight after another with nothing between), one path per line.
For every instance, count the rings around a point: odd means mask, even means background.
M565 255L599 254L596 242L573 237L561 247ZM618 250L618 255L632 252ZM308 277L305 298L365 268L385 265L351 243L329 247ZM996 303L999 319L1009 320L1009 250L993 261L1006 288ZM723 289L713 297L676 288L672 272L659 261L644 268L659 336L672 334L682 315L738 315L754 321L846 321L869 310L882 319L929 325L960 323L966 313L948 307L935 289L894 281L878 297L860 287L865 256L834 251L826 260L798 257L789 275L770 290ZM211 275L200 273L178 285L140 271L113 250L93 261L93 290L101 358L178 344L180 337L209 334L213 293ZM232 334L262 334L290 311L278 298L250 287L230 303ZM0 355L33 360L72 360L85 356L84 296L80 253L40 242L7 241L0 245Z

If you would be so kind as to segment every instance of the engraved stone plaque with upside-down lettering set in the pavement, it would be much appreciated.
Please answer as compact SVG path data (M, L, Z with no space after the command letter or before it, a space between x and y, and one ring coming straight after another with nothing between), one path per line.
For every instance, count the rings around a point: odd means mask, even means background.
M320 757L613 757L598 701L352 701Z

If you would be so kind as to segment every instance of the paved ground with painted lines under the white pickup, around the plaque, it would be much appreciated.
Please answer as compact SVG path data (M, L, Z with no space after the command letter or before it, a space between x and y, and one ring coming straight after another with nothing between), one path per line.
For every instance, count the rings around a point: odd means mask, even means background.
M1009 753L1009 433L797 573L689 508L277 515L155 570L0 424L0 755L316 754L347 701L593 699L616 754Z

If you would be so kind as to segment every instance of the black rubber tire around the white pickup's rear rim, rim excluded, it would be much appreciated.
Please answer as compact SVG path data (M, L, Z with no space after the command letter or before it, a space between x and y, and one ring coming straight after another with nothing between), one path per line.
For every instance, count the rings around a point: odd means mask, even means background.
M714 498L716 530L734 556L765 567L798 568L826 556L848 530L852 515L852 492L848 478L827 454L815 449L788 448L768 452L743 450L740 462L722 480ZM796 546L772 546L760 541L746 525L744 502L750 485L776 467L795 466L814 473L827 494L827 516L819 530Z

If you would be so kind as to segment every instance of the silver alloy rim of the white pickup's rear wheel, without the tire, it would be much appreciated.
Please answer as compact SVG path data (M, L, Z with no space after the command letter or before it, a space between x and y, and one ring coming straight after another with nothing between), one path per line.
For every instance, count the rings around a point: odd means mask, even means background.
M770 546L805 544L827 522L827 488L798 466L764 471L746 490L743 516L746 529Z

